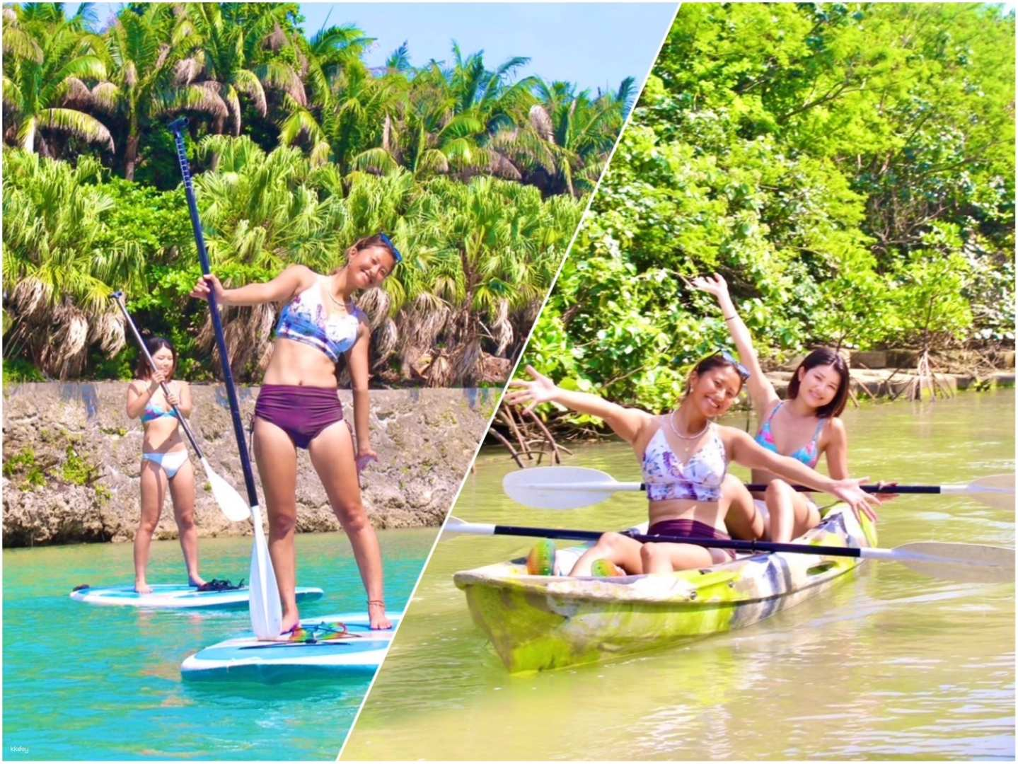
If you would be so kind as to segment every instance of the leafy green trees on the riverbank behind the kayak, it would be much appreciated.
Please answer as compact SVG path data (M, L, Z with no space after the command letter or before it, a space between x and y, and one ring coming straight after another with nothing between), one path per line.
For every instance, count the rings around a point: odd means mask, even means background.
M527 360L665 409L729 344L765 356L1014 343L1013 13L684 5Z

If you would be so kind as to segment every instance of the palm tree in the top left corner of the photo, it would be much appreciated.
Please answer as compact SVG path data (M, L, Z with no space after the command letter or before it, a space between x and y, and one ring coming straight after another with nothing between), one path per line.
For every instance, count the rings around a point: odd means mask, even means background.
M87 111L93 107L88 82L104 81L107 70L96 53L102 41L82 31L82 17L79 10L65 20L52 4L4 8L7 143L51 156L54 139L77 137L113 151L109 129Z

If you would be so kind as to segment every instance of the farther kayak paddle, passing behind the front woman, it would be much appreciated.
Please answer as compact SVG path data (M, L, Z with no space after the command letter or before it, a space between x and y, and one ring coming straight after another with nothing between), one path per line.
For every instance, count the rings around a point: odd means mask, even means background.
M805 485L796 490L811 491ZM860 485L867 493L938 493L972 495L998 509L1015 506L1015 476L989 475L969 483L944 485ZM641 491L645 483L620 482L607 472L589 467L529 467L510 472L502 479L506 495L525 507L542 510L575 510L604 502L613 493ZM750 483L749 490L765 490L766 485Z

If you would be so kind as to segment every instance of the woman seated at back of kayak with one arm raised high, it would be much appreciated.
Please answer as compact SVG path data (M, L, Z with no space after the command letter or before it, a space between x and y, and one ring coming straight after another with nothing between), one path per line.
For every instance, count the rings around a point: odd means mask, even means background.
M752 337L735 309L725 280L715 274L713 278L693 279L692 285L718 300L739 359L749 370L746 385L760 422L756 443L807 467L815 467L824 456L831 477L848 477L848 437L838 418L848 399L845 360L828 348L812 351L795 369L788 398L782 401L760 368ZM754 468L752 481L766 484L767 490L750 495L734 478L723 489L725 499L731 502L728 526L737 536L788 541L819 524L819 510L808 493L796 491L767 469Z

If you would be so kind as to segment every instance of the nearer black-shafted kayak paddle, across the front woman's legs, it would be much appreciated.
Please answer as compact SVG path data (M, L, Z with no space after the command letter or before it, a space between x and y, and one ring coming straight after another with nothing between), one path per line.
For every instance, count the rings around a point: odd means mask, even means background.
M468 533L478 536L529 536L533 538L563 538L577 541L597 541L603 531L569 530L563 528L526 528L490 523L467 523L450 516L443 531ZM775 541L739 541L736 539L696 538L688 536L655 535L625 532L624 535L640 542L695 544L720 549L759 552L792 552L819 556L861 557L901 563L916 573L948 581L982 584L1013 583L1015 580L1015 550L984 544L919 541L903 544L893 549L855 546L822 546L817 544L778 543Z

